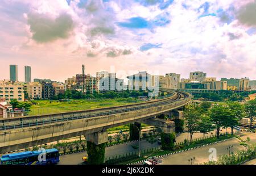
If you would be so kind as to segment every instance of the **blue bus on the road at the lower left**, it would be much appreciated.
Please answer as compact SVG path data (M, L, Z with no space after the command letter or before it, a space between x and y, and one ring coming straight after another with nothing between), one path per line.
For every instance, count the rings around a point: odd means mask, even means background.
M45 152L46 156L44 161L39 161L39 154ZM59 150L57 149L46 149L38 151L28 151L20 153L12 153L3 155L0 158L1 165L50 165L56 164L60 161Z

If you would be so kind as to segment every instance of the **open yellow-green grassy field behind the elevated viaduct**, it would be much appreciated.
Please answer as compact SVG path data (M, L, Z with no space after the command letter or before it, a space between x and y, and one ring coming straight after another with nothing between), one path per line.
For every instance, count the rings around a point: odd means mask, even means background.
M31 106L29 115L52 114L58 112L92 110L95 108L122 106L126 104L139 103L141 100L135 98L117 99L80 99L70 102L60 102L59 100L35 100L37 104Z

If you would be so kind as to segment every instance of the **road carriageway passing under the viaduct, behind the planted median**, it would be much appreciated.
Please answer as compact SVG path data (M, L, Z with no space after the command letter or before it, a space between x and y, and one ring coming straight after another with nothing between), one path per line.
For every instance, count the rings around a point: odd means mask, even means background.
M228 132L230 129L228 129ZM222 130L222 132L225 132L225 130ZM214 132L213 132L214 134ZM209 135L211 135L209 133ZM209 136L205 135L205 136ZM202 133L195 133L193 135L193 139L203 137ZM182 133L179 136L176 137L176 143L180 143L184 141L184 139L187 139L187 133ZM126 144L120 144L120 145L114 145L114 146L109 146L105 149L105 157L115 157L119 156L119 154L126 154L130 152L135 152L138 151L138 149L133 149L131 145L134 144L139 144L138 141L134 141L131 143L126 143ZM141 141L141 150L144 149L149 149L149 148L155 148L156 146L159 146L158 143L150 144L146 140ZM59 165L77 165L81 164L81 158L86 155L86 152L80 152L80 153L73 153L73 154L66 154L63 156L60 156L60 162Z

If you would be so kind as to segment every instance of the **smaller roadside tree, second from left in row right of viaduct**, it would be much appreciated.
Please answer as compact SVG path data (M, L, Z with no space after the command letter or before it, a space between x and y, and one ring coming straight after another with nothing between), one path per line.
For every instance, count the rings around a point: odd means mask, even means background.
M201 115L199 121L200 133L203 133L205 137L205 134L211 132L213 129L213 121L210 119L210 117L208 115Z

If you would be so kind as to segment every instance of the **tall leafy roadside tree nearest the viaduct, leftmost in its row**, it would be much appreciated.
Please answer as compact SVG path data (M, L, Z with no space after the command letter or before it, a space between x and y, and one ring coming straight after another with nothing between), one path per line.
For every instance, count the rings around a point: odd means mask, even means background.
M192 143L193 133L199 130L200 111L196 104L185 107L184 111L185 127L190 134L190 143Z

